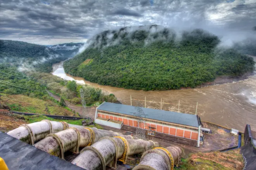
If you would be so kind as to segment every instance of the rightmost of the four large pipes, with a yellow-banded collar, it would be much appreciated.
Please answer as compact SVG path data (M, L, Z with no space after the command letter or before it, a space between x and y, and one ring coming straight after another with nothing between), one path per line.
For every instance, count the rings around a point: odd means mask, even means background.
M182 156L182 149L173 147L156 147L146 151L139 165L133 170L173 170L174 165L178 167L178 163Z

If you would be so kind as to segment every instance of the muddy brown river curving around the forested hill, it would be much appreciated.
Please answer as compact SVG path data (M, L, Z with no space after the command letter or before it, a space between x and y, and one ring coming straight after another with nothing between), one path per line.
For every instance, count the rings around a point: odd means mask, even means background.
M238 129L241 132L244 132L246 124L250 124L251 129L256 131L256 75L242 81L202 88L138 91L102 86L86 81L81 77L71 76L64 72L63 62L53 66L52 74L66 80L75 80L81 84L89 84L109 94L112 93L125 105L130 105L132 98L132 105L136 105L136 102L141 100L140 102L145 106L146 97L146 107L160 109L162 99L163 110L195 114L198 102L197 114L201 117L202 121ZM179 101L180 107L178 109Z

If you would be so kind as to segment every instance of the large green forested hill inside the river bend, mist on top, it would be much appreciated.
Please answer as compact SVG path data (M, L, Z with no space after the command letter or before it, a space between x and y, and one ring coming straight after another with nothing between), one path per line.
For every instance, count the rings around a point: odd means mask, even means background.
M217 48L220 39L204 30L175 33L156 25L104 31L81 54L64 62L73 76L132 89L179 89L216 76L252 72L252 57Z

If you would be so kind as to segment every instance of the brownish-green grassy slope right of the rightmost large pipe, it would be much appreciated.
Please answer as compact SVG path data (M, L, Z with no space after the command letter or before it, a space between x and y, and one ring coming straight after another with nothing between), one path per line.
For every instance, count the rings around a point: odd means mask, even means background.
M176 170L242 170L243 158L239 151L195 153L182 159Z

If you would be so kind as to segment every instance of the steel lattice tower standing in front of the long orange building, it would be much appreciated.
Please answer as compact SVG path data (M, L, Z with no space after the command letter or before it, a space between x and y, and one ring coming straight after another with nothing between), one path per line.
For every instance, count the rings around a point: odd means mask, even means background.
M146 131L144 129L144 125L145 125L145 113L142 110L142 105L137 102L137 106L135 106L135 109L137 112L133 113L134 116L136 116L137 118L137 122L138 122L138 127L136 129L136 136L138 137L138 139L143 139L146 140ZM141 128L143 126L143 129Z

